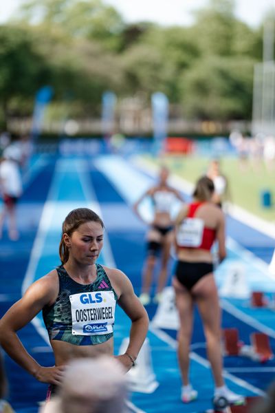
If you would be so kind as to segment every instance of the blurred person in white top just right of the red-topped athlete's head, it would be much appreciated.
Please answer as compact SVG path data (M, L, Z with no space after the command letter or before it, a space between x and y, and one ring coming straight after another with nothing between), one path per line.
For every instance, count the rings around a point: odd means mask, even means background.
M214 182L212 201L221 208L223 202L230 200L230 193L228 188L228 178L221 173L219 160L213 159L210 162L207 176Z

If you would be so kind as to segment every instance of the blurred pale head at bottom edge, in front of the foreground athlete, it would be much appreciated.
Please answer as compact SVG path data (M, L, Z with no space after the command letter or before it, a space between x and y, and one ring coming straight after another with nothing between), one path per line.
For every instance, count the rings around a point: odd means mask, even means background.
M64 372L58 394L40 413L126 413L125 371L106 355L74 360Z

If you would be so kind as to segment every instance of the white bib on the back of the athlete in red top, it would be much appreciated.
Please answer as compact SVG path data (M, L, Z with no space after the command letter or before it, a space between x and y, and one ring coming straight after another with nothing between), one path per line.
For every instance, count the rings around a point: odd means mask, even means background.
M177 229L179 246L197 247L201 245L204 222L200 218L185 218Z

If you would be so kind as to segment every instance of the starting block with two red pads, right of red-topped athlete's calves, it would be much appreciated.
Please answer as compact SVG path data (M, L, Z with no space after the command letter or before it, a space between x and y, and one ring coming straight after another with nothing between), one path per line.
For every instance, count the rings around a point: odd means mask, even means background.
M223 354L226 356L244 356L261 363L273 359L274 354L268 335L263 332L252 332L250 343L246 345L239 340L239 332L236 328L223 330Z

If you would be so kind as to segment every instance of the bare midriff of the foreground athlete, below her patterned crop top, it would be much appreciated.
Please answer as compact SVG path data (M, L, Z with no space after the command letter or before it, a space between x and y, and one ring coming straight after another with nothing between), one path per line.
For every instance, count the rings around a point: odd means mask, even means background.
M56 366L66 364L69 360L82 357L98 357L101 354L113 355L113 337L94 346L76 346L61 340L51 340Z

